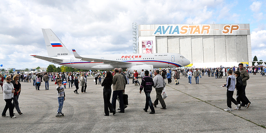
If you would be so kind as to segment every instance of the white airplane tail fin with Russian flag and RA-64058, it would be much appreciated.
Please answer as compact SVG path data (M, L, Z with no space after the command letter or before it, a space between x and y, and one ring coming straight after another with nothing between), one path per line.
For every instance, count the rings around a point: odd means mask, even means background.
M48 56L72 55L51 29L42 29Z

